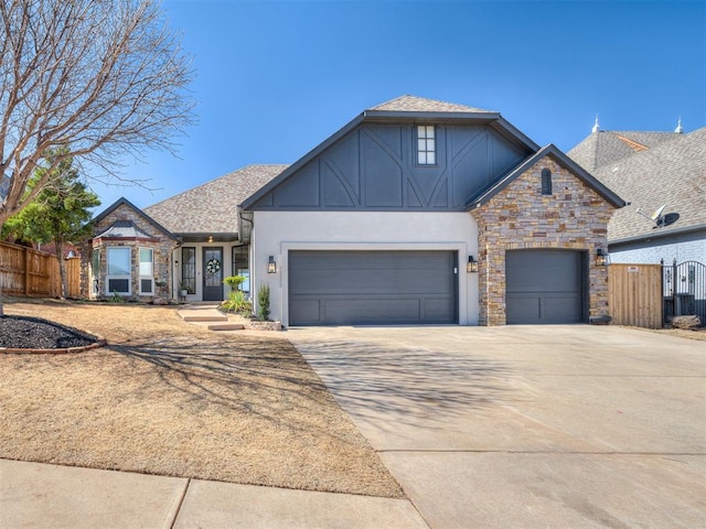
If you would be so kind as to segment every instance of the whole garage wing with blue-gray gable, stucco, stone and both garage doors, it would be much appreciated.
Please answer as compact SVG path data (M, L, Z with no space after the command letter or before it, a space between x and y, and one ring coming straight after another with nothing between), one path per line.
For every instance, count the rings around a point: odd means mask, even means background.
M242 209L252 280L285 325L498 325L608 315L598 256L623 205L499 112L403 96Z

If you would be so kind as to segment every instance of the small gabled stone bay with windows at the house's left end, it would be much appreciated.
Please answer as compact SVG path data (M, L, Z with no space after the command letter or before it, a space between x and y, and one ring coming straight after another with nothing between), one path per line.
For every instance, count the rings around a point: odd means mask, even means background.
M172 298L176 237L125 198L97 215L93 226L94 237L81 251L82 295Z

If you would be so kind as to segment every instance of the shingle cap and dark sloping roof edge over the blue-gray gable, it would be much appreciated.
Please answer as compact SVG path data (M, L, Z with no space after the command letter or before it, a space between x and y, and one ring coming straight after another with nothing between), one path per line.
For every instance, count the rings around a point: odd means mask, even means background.
M244 197L242 207L244 209L250 208L267 193L280 185L292 174L303 168L307 163L313 160L317 155L334 144L345 134L353 131L361 123L381 121L408 122L409 120L421 122L428 120L435 122L443 121L488 123L500 134L511 139L513 142L522 144L525 149L528 149L533 152L539 150L539 145L537 145L523 132L521 132L513 125L506 121L499 112L492 110L483 110L475 107L468 107L466 105L457 105L453 102L445 102L435 99L426 99L422 97L405 95L392 99L387 102L383 102L382 105L377 105L375 107L363 110L363 112L356 116L347 125L339 129L323 142L318 144L315 148L300 158L297 162L292 163L289 168L270 180L263 187L254 191L252 195Z

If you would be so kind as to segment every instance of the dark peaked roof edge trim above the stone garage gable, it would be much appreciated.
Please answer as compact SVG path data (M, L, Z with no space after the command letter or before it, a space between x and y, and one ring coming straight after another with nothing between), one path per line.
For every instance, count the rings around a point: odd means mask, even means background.
M588 185L600 196L602 196L609 204L612 204L614 207L623 207L625 205L625 202L620 196L618 196L613 191L609 190L600 181L595 179L591 174L584 170L584 168L574 162L556 145L548 144L547 147L539 149L532 156L523 161L520 165L513 169L510 173L507 173L503 179L498 181L491 187L472 197L468 203L468 208L471 209L485 204L493 196L507 187L511 182L521 176L525 171L527 171L545 156L552 156L559 165L574 173L586 185Z

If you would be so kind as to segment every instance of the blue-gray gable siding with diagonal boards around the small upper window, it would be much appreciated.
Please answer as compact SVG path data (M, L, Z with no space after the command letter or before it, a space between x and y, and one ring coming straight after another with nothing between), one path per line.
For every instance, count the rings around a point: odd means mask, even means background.
M464 210L532 154L486 125L437 125L437 165L416 162L416 127L361 123L257 201L254 210Z

